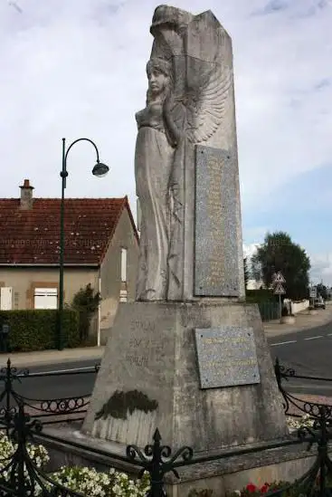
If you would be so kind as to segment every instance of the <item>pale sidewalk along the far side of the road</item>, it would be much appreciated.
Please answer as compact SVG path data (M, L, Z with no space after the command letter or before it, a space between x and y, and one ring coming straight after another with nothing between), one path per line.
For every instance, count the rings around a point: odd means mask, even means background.
M327 309L318 309L315 315L308 315L308 311L299 312L294 324L280 324L280 320L263 323L267 338L287 335L299 330L308 330L323 326L331 322L332 331L332 302L327 302ZM1 354L0 368L4 368L10 358L16 368L31 368L33 366L46 366L49 364L66 364L83 360L99 362L104 354L105 347L84 347L81 349L41 350L38 352L15 352Z

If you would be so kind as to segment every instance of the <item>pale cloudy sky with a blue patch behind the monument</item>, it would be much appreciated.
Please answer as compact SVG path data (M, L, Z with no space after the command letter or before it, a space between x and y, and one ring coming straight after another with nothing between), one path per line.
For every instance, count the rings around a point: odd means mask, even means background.
M128 195L146 100L153 0L0 0L0 196ZM286 231L332 284L332 0L178 0L232 36L244 252Z

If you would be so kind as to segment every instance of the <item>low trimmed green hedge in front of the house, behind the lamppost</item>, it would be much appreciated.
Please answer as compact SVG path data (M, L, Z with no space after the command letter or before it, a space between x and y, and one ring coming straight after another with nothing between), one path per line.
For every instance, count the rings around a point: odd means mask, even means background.
M10 327L9 351L47 350L57 348L57 314L53 310L0 311L0 330L3 323ZM76 311L63 311L62 345L80 345L79 317Z

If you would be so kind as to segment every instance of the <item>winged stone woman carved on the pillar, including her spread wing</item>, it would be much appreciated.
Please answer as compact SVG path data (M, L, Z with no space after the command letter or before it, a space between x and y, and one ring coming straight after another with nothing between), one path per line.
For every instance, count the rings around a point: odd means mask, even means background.
M147 107L136 114L135 173L141 211L137 300L182 301L189 195L185 162L194 162L194 145L219 129L232 71L188 57L152 57L147 78Z

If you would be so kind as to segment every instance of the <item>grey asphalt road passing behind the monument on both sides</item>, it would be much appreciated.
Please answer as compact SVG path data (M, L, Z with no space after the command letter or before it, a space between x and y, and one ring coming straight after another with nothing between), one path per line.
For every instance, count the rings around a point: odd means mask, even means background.
M278 357L282 365L294 368L299 375L332 378L332 322L273 337L268 339L268 343L273 361ZM86 372L82 375L22 378L22 383L15 382L14 387L24 397L34 399L83 397L92 391L96 373L89 371L95 364L96 360L84 360L29 368L33 374L63 370L74 372L77 368L83 368ZM285 387L292 392L332 397L332 381L323 383L298 379L287 382Z

